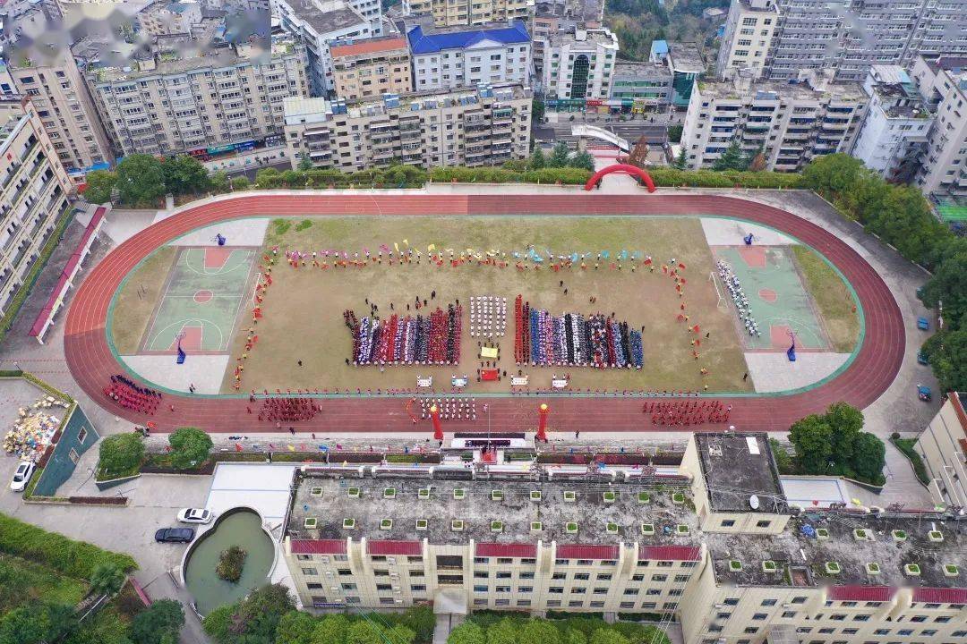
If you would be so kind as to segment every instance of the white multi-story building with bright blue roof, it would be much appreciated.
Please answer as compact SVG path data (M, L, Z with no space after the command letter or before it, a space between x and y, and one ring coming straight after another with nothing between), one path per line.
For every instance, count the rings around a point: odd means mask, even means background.
M412 27L406 38L413 56L417 92L455 90L479 84L528 84L531 37L523 22L480 29Z

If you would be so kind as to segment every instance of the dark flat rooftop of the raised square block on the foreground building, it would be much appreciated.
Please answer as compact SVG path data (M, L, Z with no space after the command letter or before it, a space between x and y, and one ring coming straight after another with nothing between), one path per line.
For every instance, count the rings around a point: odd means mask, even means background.
M699 433L695 445L714 511L786 513L766 434Z

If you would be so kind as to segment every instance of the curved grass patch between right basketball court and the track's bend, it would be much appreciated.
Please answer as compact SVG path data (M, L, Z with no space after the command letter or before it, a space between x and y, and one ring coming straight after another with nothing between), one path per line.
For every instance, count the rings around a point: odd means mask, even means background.
M801 245L792 249L806 282L806 291L812 295L826 324L833 350L849 353L860 337L860 317L853 295L833 267L814 250Z

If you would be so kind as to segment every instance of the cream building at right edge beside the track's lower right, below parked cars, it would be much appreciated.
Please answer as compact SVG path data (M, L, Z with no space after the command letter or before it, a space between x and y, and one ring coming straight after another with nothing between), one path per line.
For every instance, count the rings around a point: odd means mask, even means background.
M950 398L917 437L914 449L923 459L937 501L952 509L967 508L967 394Z

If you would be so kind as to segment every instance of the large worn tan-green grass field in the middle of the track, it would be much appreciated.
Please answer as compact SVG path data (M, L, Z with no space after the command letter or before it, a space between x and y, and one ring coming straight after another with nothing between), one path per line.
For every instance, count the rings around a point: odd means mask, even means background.
M365 268L295 270L281 256L286 249L304 252L340 249L361 252L368 248L375 255L380 244L393 247L407 239L412 247L425 251L427 244L437 249L495 249L508 252L524 250L529 244L538 249L551 249L555 254L601 250L612 254L625 249L651 255L660 266L669 258L684 262L688 284L680 299L672 279L638 268L622 270L607 264L598 270L571 268L562 272L519 271L511 266L465 265L443 267L428 264L380 266ZM379 305L381 317L387 317L390 303L396 313L405 314L406 302L414 297L429 298L437 293L437 302L445 305L459 299L466 305L475 294L491 294L508 300L508 335L501 342L500 367L515 373L513 363L513 298L522 294L532 306L547 308L552 314L565 311L605 315L615 312L619 320L631 326L645 327L645 366L640 372L595 371L571 369L572 385L582 389L701 389L708 384L711 391L748 391L742 377L746 364L731 315L717 308L717 296L708 276L713 270L712 255L700 222L689 217L319 217L313 219L277 219L269 226L265 248L278 245L279 262L273 270L275 278L263 310L265 317L257 325L259 341L246 361L243 390L251 388L329 388L357 387L386 389L413 387L416 376L432 375L437 389L449 387L454 373L473 378L480 366L475 359L477 339L471 339L469 324L464 321L462 360L457 368L395 366L380 372L376 367L352 367L344 364L352 342L342 312L353 309L357 316L368 313L366 298ZM594 261L591 262L592 266ZM564 280L565 287L559 282ZM564 293L568 289L568 294ZM598 298L592 305L589 297ZM680 302L685 301L691 320L702 328L700 359L692 355L686 324L676 322ZM466 315L466 306L464 306ZM415 313L415 311L411 311ZM422 313L428 313L424 309ZM232 356L241 355L249 316L242 316L231 349ZM705 333L710 339L705 339ZM303 361L303 366L297 364ZM231 361L234 366L234 360ZM705 367L709 375L702 377ZM558 371L562 371L560 368ZM529 368L531 386L547 388L552 368ZM232 374L226 374L222 391L232 391ZM476 384L476 392L506 392L509 383Z

